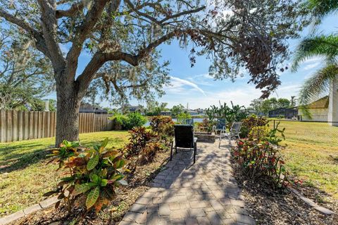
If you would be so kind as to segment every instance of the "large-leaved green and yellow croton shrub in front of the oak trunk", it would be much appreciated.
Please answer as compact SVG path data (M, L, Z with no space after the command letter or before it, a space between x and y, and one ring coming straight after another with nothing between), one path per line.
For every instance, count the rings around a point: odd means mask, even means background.
M64 200L68 212L75 206L88 212L94 208L96 213L115 197L115 188L125 185L123 171L126 164L123 152L106 150L108 138L92 149L77 151L76 142L63 141L58 150L53 151L53 161L59 162L59 169L68 171L61 178L56 190L44 196L58 194L56 207ZM61 163L62 162L62 163Z

